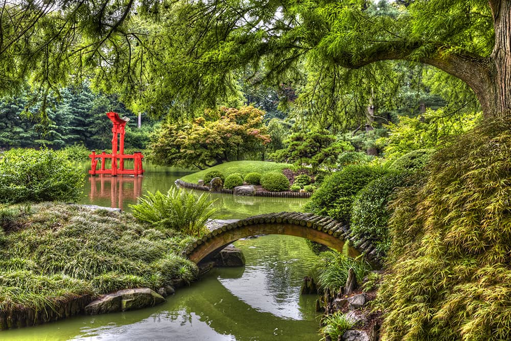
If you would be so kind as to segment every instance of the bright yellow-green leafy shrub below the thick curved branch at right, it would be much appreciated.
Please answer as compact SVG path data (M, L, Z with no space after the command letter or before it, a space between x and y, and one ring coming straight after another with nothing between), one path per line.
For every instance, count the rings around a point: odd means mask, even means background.
M417 150L436 149L449 143L454 137L469 131L480 115L464 113L461 116L446 115L443 109L427 110L415 118L402 116L398 124L389 124L388 138L378 141L388 161Z

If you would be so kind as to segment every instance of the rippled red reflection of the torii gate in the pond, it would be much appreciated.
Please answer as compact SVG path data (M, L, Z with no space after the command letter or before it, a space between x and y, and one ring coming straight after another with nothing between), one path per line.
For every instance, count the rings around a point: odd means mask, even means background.
M98 198L110 198L110 207L124 210L124 199L136 201L142 193L141 176L110 176L100 174L89 176L90 201ZM99 188L98 188L99 187Z

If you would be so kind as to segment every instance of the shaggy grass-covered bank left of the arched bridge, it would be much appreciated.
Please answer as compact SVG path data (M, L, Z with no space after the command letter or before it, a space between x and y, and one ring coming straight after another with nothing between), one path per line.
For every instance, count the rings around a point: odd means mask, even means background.
M189 281L197 268L180 255L193 240L129 213L0 205L0 311L52 309L84 294Z

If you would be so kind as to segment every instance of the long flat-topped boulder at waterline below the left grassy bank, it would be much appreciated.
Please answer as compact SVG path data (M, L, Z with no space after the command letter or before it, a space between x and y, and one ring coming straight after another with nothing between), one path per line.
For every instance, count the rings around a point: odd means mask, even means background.
M166 300L160 294L150 288L119 290L104 295L96 301L92 301L85 307L85 313L97 315L109 312L136 310L152 307L165 301Z

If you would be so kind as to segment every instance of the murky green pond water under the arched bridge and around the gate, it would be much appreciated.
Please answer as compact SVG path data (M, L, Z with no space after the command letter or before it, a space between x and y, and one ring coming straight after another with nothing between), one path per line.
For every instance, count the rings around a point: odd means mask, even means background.
M129 210L146 191L167 191L188 172L145 164L143 178L88 178L82 203ZM201 193L201 192L198 192ZM296 211L307 201L211 194L222 219ZM0 332L0 340L317 340L316 295L300 295L316 256L305 240L269 235L242 239L246 266L217 268L165 304L125 313L75 316Z

